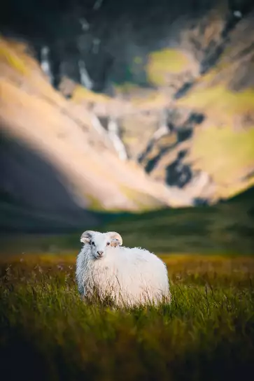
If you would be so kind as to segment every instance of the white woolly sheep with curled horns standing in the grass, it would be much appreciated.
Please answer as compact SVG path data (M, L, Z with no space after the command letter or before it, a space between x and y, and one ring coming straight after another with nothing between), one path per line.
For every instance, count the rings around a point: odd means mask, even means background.
M171 301L167 267L155 254L141 247L122 246L115 231L85 231L76 259L78 292L86 301L107 297L115 307L159 305Z

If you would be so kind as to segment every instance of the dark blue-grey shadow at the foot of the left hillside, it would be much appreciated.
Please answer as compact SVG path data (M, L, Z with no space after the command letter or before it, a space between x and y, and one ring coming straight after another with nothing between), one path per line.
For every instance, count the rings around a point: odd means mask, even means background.
M74 201L66 180L38 152L1 134L0 231L53 233L103 220Z

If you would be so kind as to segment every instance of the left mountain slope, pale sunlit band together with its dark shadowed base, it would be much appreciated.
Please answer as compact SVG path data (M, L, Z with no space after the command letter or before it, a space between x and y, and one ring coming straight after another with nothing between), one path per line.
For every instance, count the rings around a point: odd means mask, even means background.
M64 205L67 210L67 199L72 211L190 202L148 178L138 165L120 161L106 130L99 134L88 110L50 86L25 48L0 41L1 194L6 199L43 213Z

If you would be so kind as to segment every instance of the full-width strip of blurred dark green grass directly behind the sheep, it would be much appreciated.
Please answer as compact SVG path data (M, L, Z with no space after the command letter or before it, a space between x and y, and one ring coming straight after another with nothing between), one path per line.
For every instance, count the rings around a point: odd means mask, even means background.
M118 231L124 245L155 253L254 254L254 188L216 206L98 215L99 225L84 221L73 233L0 236L0 255L80 250L85 230ZM4 214L3 214L4 216ZM15 219L13 220L15 221Z

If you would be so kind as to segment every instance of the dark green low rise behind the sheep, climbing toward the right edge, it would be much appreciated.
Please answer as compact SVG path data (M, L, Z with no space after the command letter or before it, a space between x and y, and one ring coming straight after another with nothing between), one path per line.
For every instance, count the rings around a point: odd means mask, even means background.
M99 231L115 231L124 245L156 253L254 254L253 189L216 206L157 210L119 217Z

